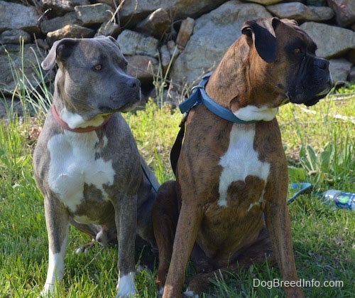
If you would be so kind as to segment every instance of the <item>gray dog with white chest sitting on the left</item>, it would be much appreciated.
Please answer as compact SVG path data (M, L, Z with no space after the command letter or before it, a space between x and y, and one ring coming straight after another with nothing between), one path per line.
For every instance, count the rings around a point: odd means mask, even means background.
M53 105L35 147L35 181L44 196L49 265L43 296L64 274L70 223L99 243L118 241L117 297L136 294L136 233L154 245L151 208L158 182L119 112L141 99L114 38L64 38L43 60L57 63Z

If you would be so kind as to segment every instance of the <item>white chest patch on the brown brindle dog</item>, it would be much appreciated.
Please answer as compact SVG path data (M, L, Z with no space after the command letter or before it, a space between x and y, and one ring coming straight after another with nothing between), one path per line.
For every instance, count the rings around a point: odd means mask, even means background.
M219 160L222 174L219 177L219 206L226 206L226 192L234 181L244 181L246 176L256 176L263 181L268 179L270 164L258 159L253 148L255 125L248 128L234 124L231 129L229 147ZM262 200L262 198L261 198Z

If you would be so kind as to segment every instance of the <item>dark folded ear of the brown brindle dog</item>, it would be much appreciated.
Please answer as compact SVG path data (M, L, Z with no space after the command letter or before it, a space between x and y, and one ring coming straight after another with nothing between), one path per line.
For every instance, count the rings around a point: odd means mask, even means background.
M267 63L273 63L276 58L275 28L279 23L278 18L258 18L246 21L241 27L241 33L253 40L258 55Z

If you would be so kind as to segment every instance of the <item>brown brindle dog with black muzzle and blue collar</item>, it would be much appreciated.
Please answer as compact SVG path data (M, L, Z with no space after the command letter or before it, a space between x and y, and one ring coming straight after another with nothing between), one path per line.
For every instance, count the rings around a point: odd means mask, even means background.
M177 181L164 183L155 201L157 284L164 298L180 297L190 256L197 275L187 296L200 293L218 270L266 256L278 262L284 281L297 281L288 167L275 115L287 102L315 105L327 95L329 63L315 56L317 46L295 21L261 18L244 23L241 32L202 81L205 91L195 91L204 93L204 105L197 101L187 116ZM205 97L221 107L210 108ZM239 119L222 119L224 108ZM284 289L287 297L303 297L300 287Z

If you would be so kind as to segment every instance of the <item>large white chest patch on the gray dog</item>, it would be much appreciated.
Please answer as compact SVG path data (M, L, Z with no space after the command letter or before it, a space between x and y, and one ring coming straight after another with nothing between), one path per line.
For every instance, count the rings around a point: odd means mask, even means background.
M84 198L85 183L101 190L103 199L107 197L103 186L114 183L112 161L96 158L99 149L95 149L95 144L98 142L95 132L75 134L67 131L56 134L48 142L50 189L58 194L72 212L77 210ZM107 138L104 139L102 147L107 142Z

